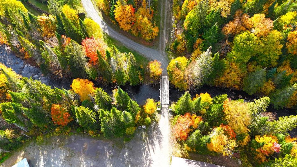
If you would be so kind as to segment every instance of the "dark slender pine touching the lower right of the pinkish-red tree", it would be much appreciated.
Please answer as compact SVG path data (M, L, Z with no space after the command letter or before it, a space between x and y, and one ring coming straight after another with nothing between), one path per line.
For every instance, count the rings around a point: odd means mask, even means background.
M111 83L112 81L112 71L108 64L108 62L103 59L101 53L97 50L98 55L98 70L102 77L108 82Z

